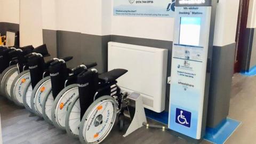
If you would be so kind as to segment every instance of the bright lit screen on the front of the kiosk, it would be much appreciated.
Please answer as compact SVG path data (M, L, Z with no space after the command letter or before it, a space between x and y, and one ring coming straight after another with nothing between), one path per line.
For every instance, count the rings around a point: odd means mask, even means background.
M201 18L181 17L180 44L199 46Z

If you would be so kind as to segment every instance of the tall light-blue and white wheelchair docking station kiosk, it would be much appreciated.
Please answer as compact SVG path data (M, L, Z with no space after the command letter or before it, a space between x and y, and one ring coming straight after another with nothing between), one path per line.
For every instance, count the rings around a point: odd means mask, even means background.
M203 0L177 0L175 5L169 129L199 140L205 129L212 6Z

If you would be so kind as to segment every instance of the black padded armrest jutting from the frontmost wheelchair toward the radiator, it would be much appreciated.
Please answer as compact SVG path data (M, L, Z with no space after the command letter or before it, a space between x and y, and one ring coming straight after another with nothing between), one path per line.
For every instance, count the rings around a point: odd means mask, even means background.
M105 81L105 83L113 82L116 81L117 78L127 73L127 71L128 70L126 69L113 69L108 71L107 73L99 75L99 79Z

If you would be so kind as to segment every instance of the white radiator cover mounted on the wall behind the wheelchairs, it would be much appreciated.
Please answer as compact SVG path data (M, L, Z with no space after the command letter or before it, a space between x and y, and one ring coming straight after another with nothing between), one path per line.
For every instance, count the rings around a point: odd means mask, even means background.
M108 43L108 70L128 70L117 84L123 91L140 93L144 107L157 113L165 109L167 57L166 49Z

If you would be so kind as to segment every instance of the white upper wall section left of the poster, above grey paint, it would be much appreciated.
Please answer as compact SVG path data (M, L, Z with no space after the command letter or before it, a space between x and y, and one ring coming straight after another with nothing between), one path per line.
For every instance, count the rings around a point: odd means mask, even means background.
M110 35L111 0L44 0L43 29Z

